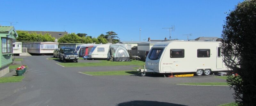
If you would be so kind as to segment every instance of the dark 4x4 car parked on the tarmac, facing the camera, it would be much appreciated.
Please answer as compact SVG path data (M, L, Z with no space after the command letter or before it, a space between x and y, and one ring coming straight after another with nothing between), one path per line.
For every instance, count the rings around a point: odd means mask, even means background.
M79 57L74 48L61 47L59 52L59 58L60 60L63 60L63 62L72 60L72 61L76 61L77 63Z

